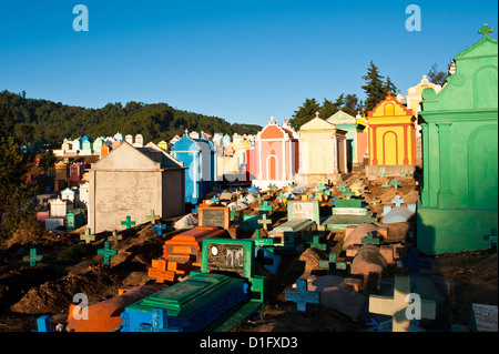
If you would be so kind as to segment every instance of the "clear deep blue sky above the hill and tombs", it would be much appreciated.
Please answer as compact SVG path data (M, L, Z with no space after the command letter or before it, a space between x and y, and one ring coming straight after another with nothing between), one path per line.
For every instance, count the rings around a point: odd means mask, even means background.
M73 30L73 7L89 31ZM406 7L421 31L406 30ZM403 93L434 62L497 39L482 1L0 0L0 90L65 104L166 102L230 122L291 118L306 98L365 98L373 60Z

